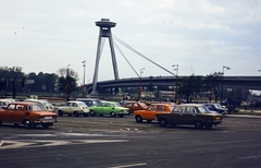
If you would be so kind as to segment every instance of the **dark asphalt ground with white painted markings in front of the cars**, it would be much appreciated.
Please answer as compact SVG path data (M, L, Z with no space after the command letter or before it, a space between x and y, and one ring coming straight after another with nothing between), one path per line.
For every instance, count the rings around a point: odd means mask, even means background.
M188 168L261 165L261 119L226 117L212 130L161 128L132 116L59 117L47 130L0 127L0 166Z

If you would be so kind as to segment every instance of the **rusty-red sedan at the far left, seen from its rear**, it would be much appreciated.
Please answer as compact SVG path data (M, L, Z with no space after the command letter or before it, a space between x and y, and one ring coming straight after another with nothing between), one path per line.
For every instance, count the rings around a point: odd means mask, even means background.
M57 113L46 110L38 103L14 101L0 110L0 125L2 123L14 123L18 127L24 124L26 129L41 125L47 129L57 122Z

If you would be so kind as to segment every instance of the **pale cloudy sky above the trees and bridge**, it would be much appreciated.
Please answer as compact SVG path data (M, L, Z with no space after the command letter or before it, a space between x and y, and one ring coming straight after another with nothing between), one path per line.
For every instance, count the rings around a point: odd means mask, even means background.
M99 27L178 75L261 75L261 0L0 0L0 67L24 73L67 68L91 83ZM120 79L167 76L114 40ZM173 64L178 64L178 71ZM229 70L223 69L229 67ZM98 81L114 80L105 38ZM79 82L80 83L80 82ZM83 82L82 82L83 83Z

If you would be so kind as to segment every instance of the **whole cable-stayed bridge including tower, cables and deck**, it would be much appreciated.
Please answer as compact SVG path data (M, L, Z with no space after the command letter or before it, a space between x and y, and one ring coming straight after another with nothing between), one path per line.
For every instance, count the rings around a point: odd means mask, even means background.
M98 47L97 47L97 56L96 56L96 67L95 67L95 74L94 74L94 81L92 83L85 84L87 92L91 92L91 94L99 94L98 91L104 91L104 89L111 89L111 93L119 93L119 88L123 87L147 87L148 89L160 87L160 86L176 86L177 83L182 83L184 79L188 76L178 76L177 74L174 74L173 72L166 70L165 68L161 67L157 62L150 60L146 56L141 55L117 37L115 37L115 40L123 44L125 47L129 48L135 53L139 55L147 61L156 64L157 67L163 69L164 71L169 72L171 76L144 76L141 77L141 70L140 75L134 70L132 64L129 65L133 68L135 73L138 77L129 77L129 79L120 79L119 77L119 70L117 70L117 63L114 52L114 44L113 44L113 37L111 33L111 28L115 27L116 23L110 22L109 19L101 19L101 21L96 22L96 25L100 27L100 34L98 38ZM112 64L114 70L114 80L109 81L100 81L98 82L98 70L99 70L99 62L102 53L103 43L104 38L109 38L109 44L111 48L111 57L112 57ZM117 46L116 46L117 47ZM121 51L120 51L121 52ZM174 67L174 65L173 65ZM228 67L223 67L228 68ZM176 72L178 71L178 67L176 69ZM224 70L223 70L224 71ZM224 74L224 72L223 72ZM206 76L202 76L206 77ZM221 80L216 81L217 85L222 85L222 87L226 88L245 88L245 89L259 89L261 91L261 76L222 76ZM139 88L140 89L140 88Z

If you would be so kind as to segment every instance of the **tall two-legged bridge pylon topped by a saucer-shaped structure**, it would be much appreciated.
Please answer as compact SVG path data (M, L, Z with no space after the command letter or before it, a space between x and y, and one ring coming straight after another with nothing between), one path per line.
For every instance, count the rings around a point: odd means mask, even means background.
M95 74L92 80L92 92L91 94L98 94L97 92L97 80L98 80L98 70L99 70L99 62L101 58L101 52L103 49L102 37L109 38L110 48L111 48L111 57L112 57L112 64L114 71L114 79L119 80L119 71L117 71L117 63L116 57L114 51L114 45L112 40L111 28L115 27L116 23L110 22L109 19L101 19L101 21L97 21L96 25L100 27L100 34L98 38L98 47L97 47L97 55L96 55L96 67L95 67Z

